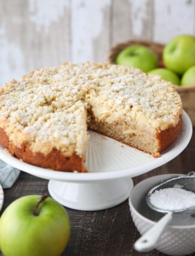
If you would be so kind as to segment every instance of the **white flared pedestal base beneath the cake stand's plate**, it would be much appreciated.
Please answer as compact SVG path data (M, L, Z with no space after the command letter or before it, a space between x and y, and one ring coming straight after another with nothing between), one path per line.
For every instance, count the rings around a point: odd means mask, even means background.
M97 211L124 202L133 189L131 178L119 178L103 183L66 183L49 181L53 199L74 210Z

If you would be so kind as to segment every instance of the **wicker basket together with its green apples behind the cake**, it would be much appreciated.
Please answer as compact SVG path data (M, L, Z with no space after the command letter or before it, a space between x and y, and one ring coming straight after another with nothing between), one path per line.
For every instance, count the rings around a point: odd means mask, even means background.
M110 63L142 69L175 85L195 126L195 37L178 36L167 45L131 40L110 49Z

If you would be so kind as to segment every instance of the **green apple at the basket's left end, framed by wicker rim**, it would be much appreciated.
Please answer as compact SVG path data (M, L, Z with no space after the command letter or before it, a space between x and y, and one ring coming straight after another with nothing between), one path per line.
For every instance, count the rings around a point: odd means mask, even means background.
M119 53L116 64L137 67L148 72L158 67L158 59L151 49L142 45L134 45Z

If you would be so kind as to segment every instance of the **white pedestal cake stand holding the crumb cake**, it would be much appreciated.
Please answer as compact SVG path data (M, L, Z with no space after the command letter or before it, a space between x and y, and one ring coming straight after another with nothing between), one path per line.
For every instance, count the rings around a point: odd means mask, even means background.
M159 158L101 134L89 133L86 154L89 173L59 172L24 163L8 154L2 146L0 158L17 169L50 180L49 193L62 205L76 210L103 210L128 198L133 188L131 177L149 172L179 155L190 142L192 125L184 112L178 139Z

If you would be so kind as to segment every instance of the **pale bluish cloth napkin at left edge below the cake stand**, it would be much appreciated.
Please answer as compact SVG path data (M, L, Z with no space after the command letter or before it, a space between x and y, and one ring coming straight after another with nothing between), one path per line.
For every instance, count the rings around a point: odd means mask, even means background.
M20 170L0 160L0 184L3 189L8 189L17 180Z

